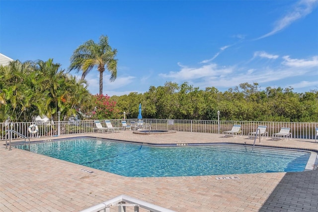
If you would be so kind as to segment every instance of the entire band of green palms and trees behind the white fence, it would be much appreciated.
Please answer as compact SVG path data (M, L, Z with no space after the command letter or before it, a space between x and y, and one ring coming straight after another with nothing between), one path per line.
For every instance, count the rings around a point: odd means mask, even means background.
M137 118L139 103L144 118L317 122L318 91L295 93L292 88L259 90L242 83L221 92L200 90L187 82L151 86L143 94L92 95L84 79L77 79L60 64L48 61L12 61L0 66L0 121L33 121L37 115L52 120Z

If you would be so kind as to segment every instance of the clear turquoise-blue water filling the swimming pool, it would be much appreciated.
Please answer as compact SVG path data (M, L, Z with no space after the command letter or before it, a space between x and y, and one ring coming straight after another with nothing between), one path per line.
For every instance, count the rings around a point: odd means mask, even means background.
M23 146L17 146L23 148ZM31 144L31 151L126 177L304 171L309 152L250 146L153 147L77 138Z

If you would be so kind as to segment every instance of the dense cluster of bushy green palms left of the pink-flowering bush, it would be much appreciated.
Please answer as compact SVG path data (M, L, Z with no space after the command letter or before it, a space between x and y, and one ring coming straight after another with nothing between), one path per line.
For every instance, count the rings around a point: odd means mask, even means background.
M33 121L37 115L57 120L76 115L77 108L90 102L90 94L75 77L48 61L12 61L0 67L0 119Z

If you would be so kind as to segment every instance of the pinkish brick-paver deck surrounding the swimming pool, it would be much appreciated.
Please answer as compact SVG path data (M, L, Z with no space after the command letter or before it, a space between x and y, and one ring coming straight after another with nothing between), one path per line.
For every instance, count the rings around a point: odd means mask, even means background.
M140 135L132 132L76 136L152 143L253 143L244 136L233 139L208 133ZM233 175L129 178L24 150L9 151L4 149L4 141L0 144L0 212L80 211L121 194L177 212L318 211L318 170L239 174L235 175L239 179L232 180L216 177ZM315 140L267 138L261 144L318 150Z

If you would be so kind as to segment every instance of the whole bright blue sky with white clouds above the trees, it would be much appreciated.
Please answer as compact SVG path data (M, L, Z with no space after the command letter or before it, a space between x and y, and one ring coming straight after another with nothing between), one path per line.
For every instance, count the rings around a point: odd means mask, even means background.
M110 96L170 81L318 90L318 0L0 1L0 53L14 60L53 58L67 70L74 50L100 35L118 51L117 79L104 73ZM97 94L97 69L86 80Z

